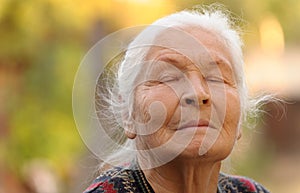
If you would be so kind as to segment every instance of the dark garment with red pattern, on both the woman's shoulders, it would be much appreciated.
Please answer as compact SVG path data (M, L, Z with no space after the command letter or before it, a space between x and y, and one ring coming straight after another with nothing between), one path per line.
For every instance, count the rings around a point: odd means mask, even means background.
M84 193L155 193L142 170L115 167L101 174ZM217 193L269 193L252 179L219 175Z

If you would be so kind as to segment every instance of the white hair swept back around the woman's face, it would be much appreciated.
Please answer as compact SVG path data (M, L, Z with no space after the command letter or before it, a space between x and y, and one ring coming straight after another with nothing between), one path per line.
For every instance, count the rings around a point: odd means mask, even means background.
M101 85L99 83L101 88L97 89L96 93L96 99L102 98L102 102L96 100L99 119L102 123L103 121L106 122L106 125L104 125L106 132L117 144L115 148L112 148L111 154L106 159L108 164L122 165L126 162L129 163L136 156L126 151L126 149L134 149L135 144L134 140L128 139L124 134L124 127L126 127L126 121L124 122L124 120L129 120L126 116L130 116L133 111L132 91L135 80L142 70L142 62L155 36L160 32L160 30L154 30L153 26L161 26L161 30L170 27L198 26L219 35L232 57L233 73L241 102L241 117L246 117L246 113L251 110L251 105L249 105L244 76L243 43L239 33L240 30L236 25L230 14L220 9L220 7L202 7L196 10L181 11L161 18L142 31L130 43L125 55L116 59L120 62L111 67L110 72L108 72L109 75L104 78L107 81L106 84L103 84L103 81ZM112 61L112 63L116 62ZM112 79L114 80L110 82ZM112 86L113 84L114 86ZM105 94L103 87L109 87L105 88ZM122 115L124 109L128 112ZM240 122L243 122L243 118L241 118ZM122 147L119 146L120 144Z

